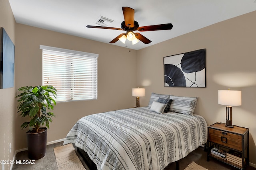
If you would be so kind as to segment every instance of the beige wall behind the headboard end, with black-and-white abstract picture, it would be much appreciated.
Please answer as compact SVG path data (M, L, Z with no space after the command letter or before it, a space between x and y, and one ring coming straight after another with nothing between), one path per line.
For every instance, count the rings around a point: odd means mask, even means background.
M242 90L242 106L233 107L233 125L248 127L250 162L256 164L256 12L210 25L137 52L138 86L151 92L197 96L195 113L208 125L225 123L225 106L218 105L218 90ZM173 27L175 29L175 25ZM171 33L171 31L170 31ZM164 87L163 57L206 49L206 88Z

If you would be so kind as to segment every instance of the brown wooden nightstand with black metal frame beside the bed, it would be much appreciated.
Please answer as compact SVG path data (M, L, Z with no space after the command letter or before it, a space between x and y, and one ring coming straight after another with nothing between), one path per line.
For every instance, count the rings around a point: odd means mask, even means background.
M226 164L244 170L249 164L249 129L245 127L234 126L225 127L225 123L214 123L208 126L208 154L209 158L215 158ZM212 154L211 149L218 147L229 151L226 158L220 158ZM236 154L234 154L236 153ZM233 154L234 156L233 159ZM226 159L226 160L225 160Z

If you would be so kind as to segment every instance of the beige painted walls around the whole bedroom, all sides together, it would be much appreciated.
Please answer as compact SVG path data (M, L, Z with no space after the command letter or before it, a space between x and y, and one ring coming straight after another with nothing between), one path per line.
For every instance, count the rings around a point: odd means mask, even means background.
M58 103L48 130L48 142L62 139L82 116L133 107L131 88L144 86L147 106L151 92L198 96L196 113L208 125L225 122L225 106L217 104L217 91L242 90L242 106L233 108L233 124L250 128L250 162L256 164L256 12L134 51L71 35L16 24L8 0L0 0L0 26L15 43L14 88L0 89L0 160L11 160L14 150L26 148L24 119L18 116L16 92L20 86L42 84L42 51L39 45L99 54L98 100ZM174 28L175 29L175 25ZM15 31L16 30L16 31ZM164 88L163 57L206 48L206 88ZM12 152L9 154L9 143ZM3 153L3 154L2 154ZM6 169L9 169L7 165Z

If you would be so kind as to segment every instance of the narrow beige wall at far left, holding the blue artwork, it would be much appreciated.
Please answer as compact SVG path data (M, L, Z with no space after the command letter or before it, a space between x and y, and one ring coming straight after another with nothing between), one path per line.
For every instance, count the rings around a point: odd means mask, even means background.
M15 44L15 20L8 0L0 0L0 27L3 27ZM14 115L15 108L15 85L13 88L0 89L0 160L12 160L14 148ZM9 153L9 144L12 152ZM2 164L0 164L2 166ZM10 165L4 165L10 169Z

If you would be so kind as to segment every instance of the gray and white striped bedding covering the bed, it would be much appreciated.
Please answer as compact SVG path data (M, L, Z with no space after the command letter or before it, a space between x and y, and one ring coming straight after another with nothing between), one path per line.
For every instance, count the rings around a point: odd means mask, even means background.
M98 170L163 170L206 141L207 124L200 115L137 107L82 117L64 145L85 150Z

